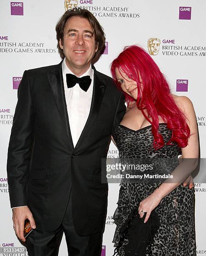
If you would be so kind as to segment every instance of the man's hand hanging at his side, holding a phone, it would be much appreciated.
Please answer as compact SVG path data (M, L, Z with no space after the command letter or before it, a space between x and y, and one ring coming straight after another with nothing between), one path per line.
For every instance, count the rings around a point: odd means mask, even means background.
M31 227L33 229L36 228L35 221L33 219L33 215L29 210L28 206L16 207L12 209L13 212L13 227L18 238L25 242L26 239L24 237L24 221L27 218L30 221Z

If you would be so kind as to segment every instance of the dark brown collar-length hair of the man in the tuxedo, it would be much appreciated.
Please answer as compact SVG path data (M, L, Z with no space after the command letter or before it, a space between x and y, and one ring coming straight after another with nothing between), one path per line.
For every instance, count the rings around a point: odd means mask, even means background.
M98 22L98 20L94 17L90 11L81 9L81 8L73 8L72 10L67 10L62 17L58 20L58 23L56 24L56 34L57 34L57 48L58 52L60 54L60 57L64 59L65 55L63 53L63 50L60 48L59 41L61 39L62 44L63 42L63 36L64 36L64 27L67 22L67 20L71 17L78 16L80 18L85 18L90 23L90 26L93 29L94 37L95 37L95 46L98 45L98 50L94 55L94 58L98 56L103 49L105 48L105 34L103 31L102 26Z

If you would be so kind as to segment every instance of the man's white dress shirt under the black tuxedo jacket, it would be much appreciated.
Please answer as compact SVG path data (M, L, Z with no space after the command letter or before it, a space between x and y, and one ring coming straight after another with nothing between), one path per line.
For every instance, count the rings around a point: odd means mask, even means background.
M89 116L91 102L92 102L92 94L93 94L94 71L90 65L87 72L85 72L83 75L80 76L80 77L84 77L89 75L90 78L92 79L90 87L86 92L79 87L79 84L76 84L72 88L67 87L66 74L73 74L73 73L70 71L70 69L68 69L65 59L62 62L62 73L63 73L64 91L65 91L67 112L69 117L70 131L71 131L71 136L73 140L73 145L75 147ZM23 206L19 206L19 207L23 207ZM17 208L17 207L13 207L13 208Z

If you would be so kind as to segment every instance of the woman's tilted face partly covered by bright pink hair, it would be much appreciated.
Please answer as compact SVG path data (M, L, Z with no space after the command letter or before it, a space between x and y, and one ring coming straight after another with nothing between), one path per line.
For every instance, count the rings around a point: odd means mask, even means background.
M132 80L125 74L123 71L119 72L119 69L115 69L116 79L120 83L123 92L126 92L128 95L133 97L134 100L137 100L137 83Z

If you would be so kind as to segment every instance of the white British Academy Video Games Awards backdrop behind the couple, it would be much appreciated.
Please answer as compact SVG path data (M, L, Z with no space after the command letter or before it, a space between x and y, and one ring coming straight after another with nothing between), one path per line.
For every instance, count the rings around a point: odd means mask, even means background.
M148 51L168 79L171 91L192 100L198 123L201 158L206 157L205 0L22 1L0 2L0 255L4 256L28 255L13 230L6 174L17 89L25 69L61 61L56 47L55 25L65 10L76 6L88 9L103 26L106 49L95 63L100 72L111 75L109 65L124 46L138 44ZM118 150L111 143L108 158L116 157ZM117 207L118 190L118 184L109 184L102 256L111 256L114 250L112 240L116 225L112 216ZM196 183L195 191L196 251L197 255L206 255L206 184ZM22 252L12 252L12 248L22 248ZM68 255L64 237L59 255Z

